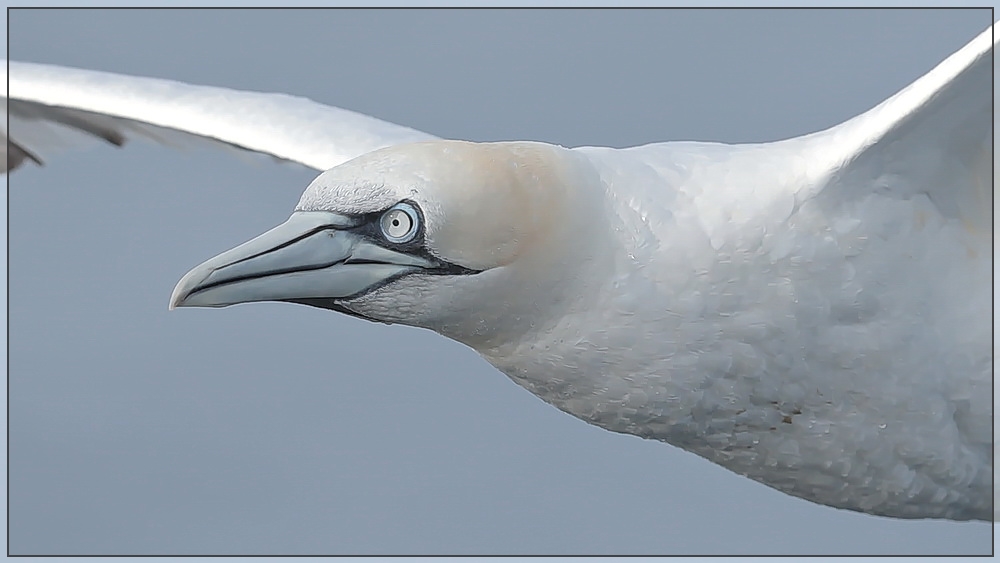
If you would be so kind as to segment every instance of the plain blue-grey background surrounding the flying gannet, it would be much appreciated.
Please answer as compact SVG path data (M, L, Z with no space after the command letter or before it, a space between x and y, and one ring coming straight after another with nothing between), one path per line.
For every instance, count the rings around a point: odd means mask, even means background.
M442 137L768 141L882 101L979 11L14 11L12 59L279 91ZM75 150L10 178L12 553L985 553L543 404L462 345L167 312L313 173Z

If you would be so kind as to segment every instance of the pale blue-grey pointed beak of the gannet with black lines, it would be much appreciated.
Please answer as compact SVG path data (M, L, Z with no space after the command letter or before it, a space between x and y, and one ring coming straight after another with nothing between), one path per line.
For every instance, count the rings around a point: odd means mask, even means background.
M432 266L348 230L356 226L355 220L336 213L295 212L281 225L188 272L174 287L170 308L341 299Z

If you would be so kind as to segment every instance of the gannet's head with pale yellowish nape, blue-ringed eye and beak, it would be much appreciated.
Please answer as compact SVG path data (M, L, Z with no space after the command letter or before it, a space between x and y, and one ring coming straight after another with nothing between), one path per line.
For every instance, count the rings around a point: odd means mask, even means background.
M195 267L174 307L284 301L429 328L477 349L583 307L601 183L543 143L432 141L332 168L285 223Z

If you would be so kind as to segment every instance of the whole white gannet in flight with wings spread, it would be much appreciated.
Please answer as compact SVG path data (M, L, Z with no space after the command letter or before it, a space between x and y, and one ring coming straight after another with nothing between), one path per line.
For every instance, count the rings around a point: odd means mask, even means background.
M986 519L989 34L825 132L623 151L402 145L420 139L391 126L326 148L344 132L296 123L306 102L225 92L212 108L218 89L125 77L112 98L106 75L12 64L8 163L42 159L22 140L39 119L347 161L172 304L284 300L431 328L583 420L790 494ZM226 111L251 105L270 127Z

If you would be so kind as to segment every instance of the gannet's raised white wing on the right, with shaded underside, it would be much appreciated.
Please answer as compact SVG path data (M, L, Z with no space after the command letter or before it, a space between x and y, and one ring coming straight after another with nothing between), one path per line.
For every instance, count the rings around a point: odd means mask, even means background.
M926 194L943 216L991 232L995 28L871 110L799 138L812 189L841 202Z

